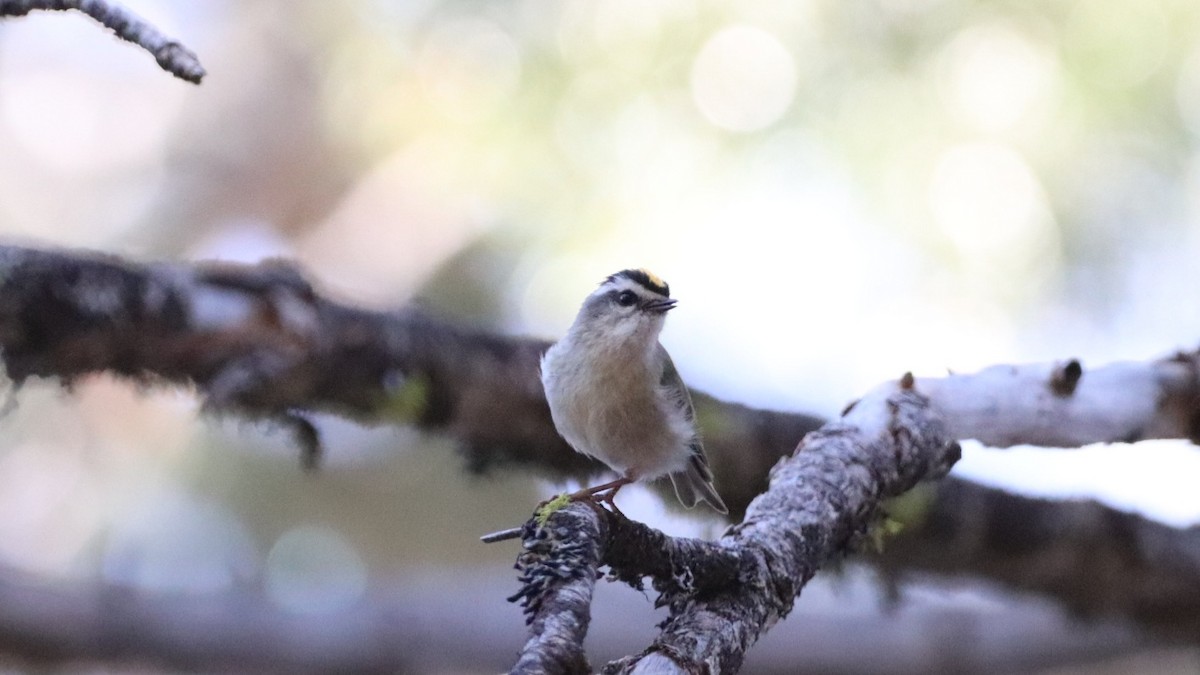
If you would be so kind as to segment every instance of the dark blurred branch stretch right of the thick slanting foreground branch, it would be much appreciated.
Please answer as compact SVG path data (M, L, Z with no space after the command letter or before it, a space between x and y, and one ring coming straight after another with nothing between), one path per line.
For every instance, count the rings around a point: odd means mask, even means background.
M966 480L944 480L923 501L872 556L884 572L994 579L1052 596L1081 617L1124 616L1162 638L1200 639L1200 526Z

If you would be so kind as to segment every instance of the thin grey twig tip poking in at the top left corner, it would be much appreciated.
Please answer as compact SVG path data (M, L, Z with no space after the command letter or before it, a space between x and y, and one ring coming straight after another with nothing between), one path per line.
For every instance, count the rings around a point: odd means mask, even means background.
M155 26L116 2L106 0L0 0L0 17L22 17L37 10L77 10L96 19L118 37L142 47L162 70L199 84L204 78L200 60L184 44L164 36Z

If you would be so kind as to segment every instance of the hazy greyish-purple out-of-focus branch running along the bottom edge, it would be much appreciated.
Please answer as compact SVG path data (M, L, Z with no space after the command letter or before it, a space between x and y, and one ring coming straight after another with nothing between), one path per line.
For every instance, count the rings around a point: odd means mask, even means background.
M445 577L395 579L350 607L298 614L259 589L139 592L106 581L49 581L0 566L0 652L7 668L35 673L55 671L60 663L78 670L89 662L138 671L498 673L511 665L521 639L520 613L503 602L480 602L511 584L508 573L475 572L452 585ZM653 622L646 601L598 590L604 629L593 637L593 649L608 655L640 649L641 626ZM797 609L800 621L775 628L780 640L755 650L757 673L836 664L847 673L924 675L953 664L956 671L998 675L1147 646L1128 627L1076 626L1030 602L982 610L917 602L905 608L902 622L869 609L829 614L812 604ZM980 649L947 649L965 637Z

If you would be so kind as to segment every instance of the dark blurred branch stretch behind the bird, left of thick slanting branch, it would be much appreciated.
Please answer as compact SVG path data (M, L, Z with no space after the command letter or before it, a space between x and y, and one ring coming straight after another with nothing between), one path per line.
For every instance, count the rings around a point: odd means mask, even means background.
M0 359L18 386L92 372L194 386L209 410L277 422L311 450L319 438L305 416L324 411L448 432L473 471L606 471L554 430L538 377L547 346L342 305L282 261L144 265L0 246ZM718 489L734 509L820 425L703 394L696 407Z

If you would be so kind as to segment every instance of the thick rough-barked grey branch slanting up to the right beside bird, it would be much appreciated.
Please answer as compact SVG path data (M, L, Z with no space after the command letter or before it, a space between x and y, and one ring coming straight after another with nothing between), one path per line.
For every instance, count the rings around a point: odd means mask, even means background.
M676 603L649 653L668 657L683 673L736 673L745 650L787 616L817 569L850 552L876 522L884 500L949 471L959 446L929 401L906 384L868 395L780 461L770 488L720 540L760 557L755 574L710 597ZM638 661L610 664L606 673L636 673Z

